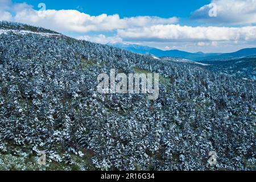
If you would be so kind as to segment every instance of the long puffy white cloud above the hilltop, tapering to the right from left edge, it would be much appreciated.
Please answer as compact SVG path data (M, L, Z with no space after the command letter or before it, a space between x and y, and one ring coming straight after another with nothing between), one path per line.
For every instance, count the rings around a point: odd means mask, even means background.
M9 5L10 1L0 0L2 5ZM4 7L4 6L3 6ZM2 20L13 20L32 24L34 26L43 26L57 31L113 31L131 27L151 26L154 24L172 24L178 19L159 18L156 16L135 16L131 18L120 18L118 14L90 16L77 10L44 10L39 11L26 3L16 3L11 5L14 15L9 13L9 7L0 9Z

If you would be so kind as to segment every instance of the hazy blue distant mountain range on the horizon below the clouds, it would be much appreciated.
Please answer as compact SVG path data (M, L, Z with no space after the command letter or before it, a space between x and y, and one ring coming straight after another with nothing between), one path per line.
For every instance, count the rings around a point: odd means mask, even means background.
M200 60L209 60L209 59L232 59L235 57L244 57L244 56L251 56L254 55L256 57L256 48L245 48L241 49L237 52L232 53L203 53L203 52L185 52L185 51L179 51L179 50L168 50L163 51L161 49L152 48L148 46L139 46L135 44L121 44L121 43L115 43L115 44L109 44L109 46L114 46L118 48L125 49L127 51L132 51L135 53L141 53L141 54L150 54L155 55L157 57L179 57L183 59L188 59L192 61L200 61Z

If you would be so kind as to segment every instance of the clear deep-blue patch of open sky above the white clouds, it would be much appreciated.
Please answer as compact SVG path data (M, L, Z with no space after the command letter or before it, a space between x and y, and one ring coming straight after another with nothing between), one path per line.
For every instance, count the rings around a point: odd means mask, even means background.
M70 10L77 9L90 15L100 14L119 14L121 18L131 16L160 16L162 18L169 18L172 16L189 17L191 13L200 7L210 3L209 0L72 0L72 1L60 1L60 0L16 0L13 2L27 2L37 8L40 2L44 2L47 5L47 9L55 10ZM181 8L182 7L182 8Z

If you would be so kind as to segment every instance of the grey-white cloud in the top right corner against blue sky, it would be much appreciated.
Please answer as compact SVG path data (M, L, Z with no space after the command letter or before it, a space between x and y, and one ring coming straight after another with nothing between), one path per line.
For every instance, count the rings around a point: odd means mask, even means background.
M216 7L216 17L209 16ZM256 23L256 0L212 0L192 14L192 19L204 23L249 25Z

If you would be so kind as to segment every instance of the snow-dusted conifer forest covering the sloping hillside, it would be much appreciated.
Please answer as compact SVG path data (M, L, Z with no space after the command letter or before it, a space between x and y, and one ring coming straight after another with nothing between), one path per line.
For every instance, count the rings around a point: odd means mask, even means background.
M98 93L97 76L110 69L159 73L158 100ZM65 36L1 34L0 169L7 156L32 165L39 151L47 165L84 170L255 169L255 86ZM216 166L209 151L217 152Z

